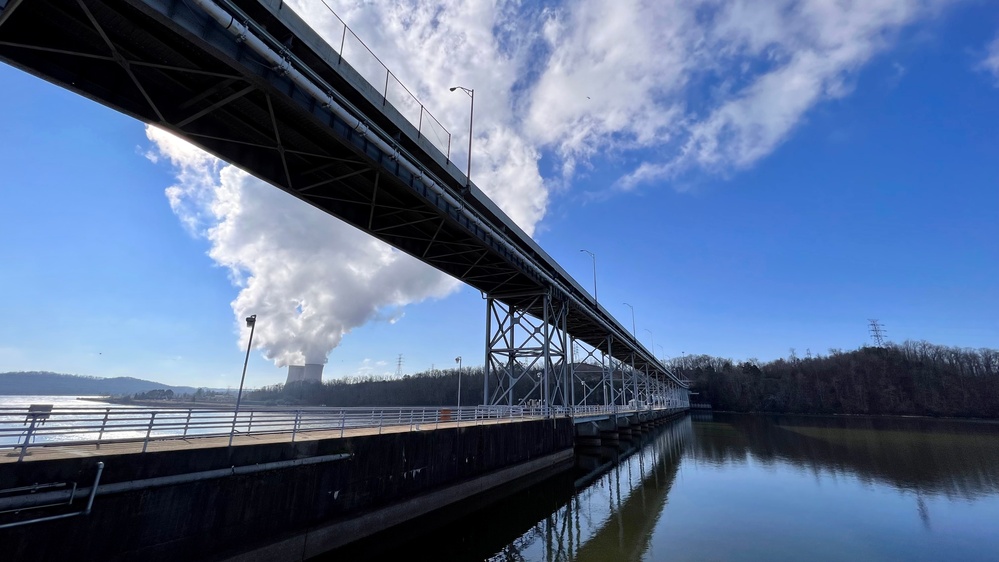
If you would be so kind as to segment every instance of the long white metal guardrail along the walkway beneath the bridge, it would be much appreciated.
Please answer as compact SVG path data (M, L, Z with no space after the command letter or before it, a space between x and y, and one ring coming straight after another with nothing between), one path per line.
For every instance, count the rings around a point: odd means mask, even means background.
M499 420L610 414L611 406L575 408L541 406L397 407L397 408L251 408L56 407L0 408L0 448L20 462L29 449L76 445L141 443L209 437L299 434L316 431L391 428L420 431L478 425ZM616 410L622 412L621 408Z

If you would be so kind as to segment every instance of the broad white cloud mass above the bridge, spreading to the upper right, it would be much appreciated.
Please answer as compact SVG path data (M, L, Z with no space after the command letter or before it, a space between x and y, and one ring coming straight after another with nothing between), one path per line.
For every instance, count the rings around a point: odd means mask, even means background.
M817 104L847 95L857 71L901 29L952 1L347 0L334 7L451 130L459 165L468 99L447 88L475 88L473 179L533 232L551 187L597 156L644 160L622 179L625 188L752 165ZM326 6L290 4L339 45L342 27ZM349 34L345 58L360 69L373 64ZM547 185L537 166L545 150L561 169Z

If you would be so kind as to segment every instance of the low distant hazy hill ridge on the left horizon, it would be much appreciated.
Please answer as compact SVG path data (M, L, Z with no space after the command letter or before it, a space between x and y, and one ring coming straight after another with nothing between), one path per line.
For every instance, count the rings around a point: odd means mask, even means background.
M193 394L197 391L190 386L170 386L132 377L81 377L46 371L0 373L0 395L120 395L157 389L172 390L176 394Z

